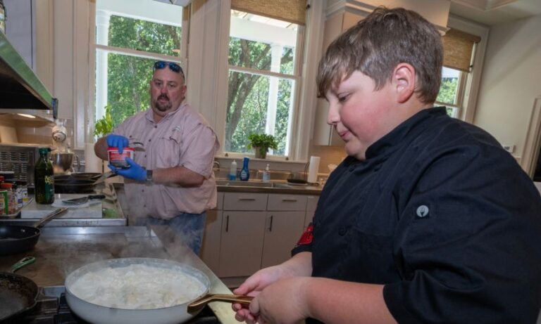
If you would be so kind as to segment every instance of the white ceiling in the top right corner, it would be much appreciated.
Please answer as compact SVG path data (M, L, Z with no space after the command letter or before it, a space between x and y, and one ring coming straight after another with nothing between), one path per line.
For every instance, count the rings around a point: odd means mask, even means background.
M451 13L485 25L541 15L541 0L451 0Z

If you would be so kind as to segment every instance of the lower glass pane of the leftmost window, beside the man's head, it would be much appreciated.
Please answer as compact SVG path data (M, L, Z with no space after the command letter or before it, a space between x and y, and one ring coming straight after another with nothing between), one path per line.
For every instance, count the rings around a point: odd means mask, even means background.
M100 53L103 52L98 51L98 55ZM116 127L127 117L149 107L149 82L154 60L116 53L108 53L107 60L107 76L105 79L97 77L96 83L97 89L100 89L98 82L107 84L107 105Z

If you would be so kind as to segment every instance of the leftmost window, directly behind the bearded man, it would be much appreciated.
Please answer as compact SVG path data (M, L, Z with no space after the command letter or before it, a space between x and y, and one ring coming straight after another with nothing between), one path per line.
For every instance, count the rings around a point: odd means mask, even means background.
M153 0L96 1L96 118L116 127L149 107L156 60L182 64L182 6Z

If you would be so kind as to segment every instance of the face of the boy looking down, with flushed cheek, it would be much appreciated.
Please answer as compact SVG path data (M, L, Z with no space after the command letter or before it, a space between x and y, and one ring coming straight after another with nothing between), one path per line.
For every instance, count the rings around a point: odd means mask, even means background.
M325 95L328 124L345 142L348 155L365 160L366 149L396 126L397 105L393 83L375 91L373 80L355 71Z

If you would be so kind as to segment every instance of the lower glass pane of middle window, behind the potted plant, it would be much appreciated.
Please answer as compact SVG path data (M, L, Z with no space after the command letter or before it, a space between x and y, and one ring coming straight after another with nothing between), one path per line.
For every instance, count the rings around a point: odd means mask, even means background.
M292 89L291 79L230 71L224 150L252 153L247 148L249 134L267 133L279 143L270 154L287 155Z

